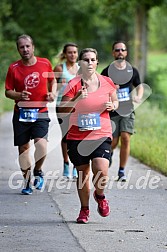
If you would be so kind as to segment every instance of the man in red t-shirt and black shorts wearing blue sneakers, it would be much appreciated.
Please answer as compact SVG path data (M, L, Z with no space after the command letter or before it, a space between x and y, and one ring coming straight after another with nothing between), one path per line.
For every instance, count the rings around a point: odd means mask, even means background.
M34 56L29 35L17 39L21 59L9 66L5 82L6 97L15 100L13 114L14 145L18 146L19 164L25 179L23 194L32 194L30 140L34 139L34 186L44 183L42 164L46 157L50 119L47 103L55 100L57 82L48 59Z

